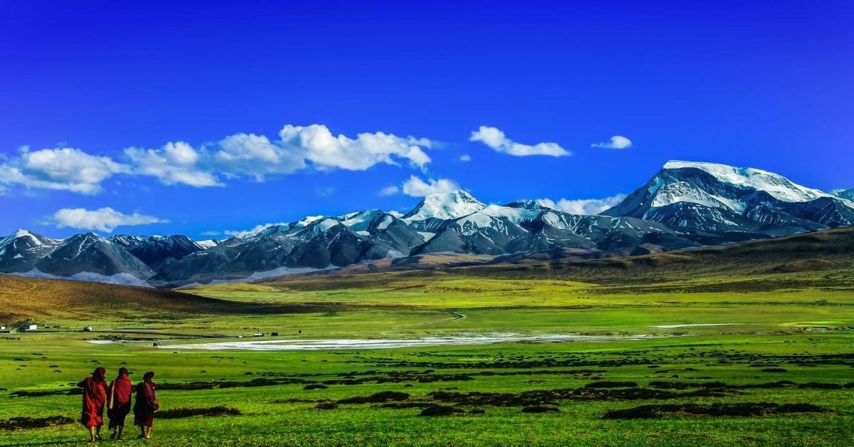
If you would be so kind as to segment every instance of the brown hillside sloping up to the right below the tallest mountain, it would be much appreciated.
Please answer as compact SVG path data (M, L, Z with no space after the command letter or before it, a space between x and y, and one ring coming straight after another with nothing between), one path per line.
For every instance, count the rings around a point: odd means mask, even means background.
M854 266L854 228L835 228L787 238L764 239L743 244L676 250L643 256L580 259L570 256L530 262L500 262L441 270L383 270L347 274L329 271L264 281L266 284L303 288L338 288L394 281L395 279L431 278L437 276L474 276L507 279L570 279L599 284L638 284L676 277L699 276L746 277L763 273L789 273L828 269L850 269ZM412 263L415 265L416 263ZM352 271L351 271L352 272ZM364 270L362 271L364 272Z

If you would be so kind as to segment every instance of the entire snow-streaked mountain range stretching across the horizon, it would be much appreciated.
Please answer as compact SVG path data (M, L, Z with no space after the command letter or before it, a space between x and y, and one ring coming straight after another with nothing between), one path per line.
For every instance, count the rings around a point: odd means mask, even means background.
M454 191L424 197L402 216L308 216L219 241L92 232L51 239L19 230L0 240L0 273L173 287L431 254L640 255L851 226L852 200L854 190L823 192L759 169L667 162L601 215L531 200L487 205Z

